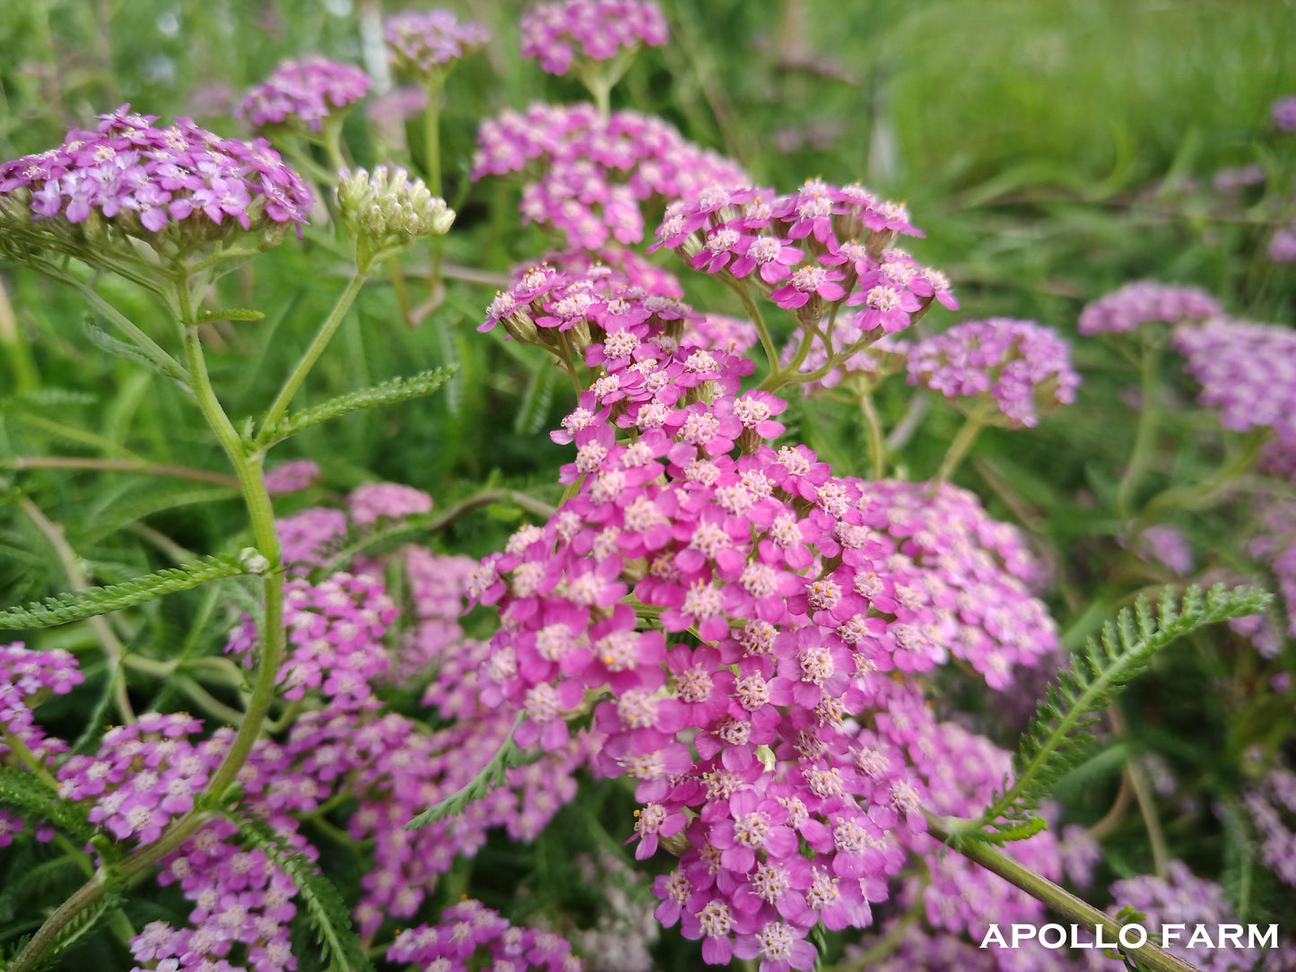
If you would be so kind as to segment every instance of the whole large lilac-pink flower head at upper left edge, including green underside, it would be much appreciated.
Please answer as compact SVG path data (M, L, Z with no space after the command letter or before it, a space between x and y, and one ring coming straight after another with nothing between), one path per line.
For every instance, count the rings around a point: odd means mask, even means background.
M110 268L136 241L174 262L240 232L259 246L307 222L310 189L264 139L223 139L188 118L123 105L95 131L0 166L0 249L23 262L57 251Z

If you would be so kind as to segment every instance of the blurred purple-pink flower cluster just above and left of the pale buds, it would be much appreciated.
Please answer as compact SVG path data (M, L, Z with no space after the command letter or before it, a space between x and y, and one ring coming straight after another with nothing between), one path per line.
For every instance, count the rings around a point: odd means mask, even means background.
M235 118L257 127L301 122L318 132L336 109L355 104L368 89L369 75L354 65L319 56L284 61L248 91Z

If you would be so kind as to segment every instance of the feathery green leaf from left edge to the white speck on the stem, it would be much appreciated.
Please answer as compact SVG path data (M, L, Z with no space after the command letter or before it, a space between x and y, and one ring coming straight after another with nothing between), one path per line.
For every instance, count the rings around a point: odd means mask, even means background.
M84 621L110 610L133 608L165 594L187 591L210 581L260 573L267 566L264 557L253 550L244 551L238 556L203 557L184 566L158 570L156 574L136 577L119 584L69 591L19 608L9 608L0 612L0 629L23 630Z

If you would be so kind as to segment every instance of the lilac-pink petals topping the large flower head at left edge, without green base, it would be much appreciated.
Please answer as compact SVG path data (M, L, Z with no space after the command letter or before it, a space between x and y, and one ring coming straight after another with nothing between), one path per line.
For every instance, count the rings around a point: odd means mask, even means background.
M310 189L264 139L223 139L188 118L156 128L157 115L128 108L100 115L95 131L67 132L56 149L5 162L0 197L27 206L34 222L84 223L95 213L132 235L172 220L206 229L227 218L244 229L307 222Z

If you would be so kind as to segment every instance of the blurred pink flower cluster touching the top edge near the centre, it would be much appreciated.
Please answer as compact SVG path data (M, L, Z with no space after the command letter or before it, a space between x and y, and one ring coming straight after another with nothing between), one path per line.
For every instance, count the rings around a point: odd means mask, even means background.
M666 43L666 18L652 0L561 0L522 16L522 57L548 74L566 74L572 58L608 61L640 43Z

